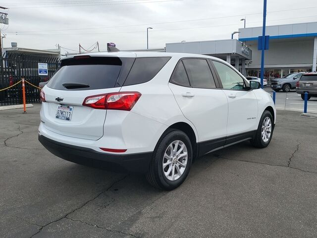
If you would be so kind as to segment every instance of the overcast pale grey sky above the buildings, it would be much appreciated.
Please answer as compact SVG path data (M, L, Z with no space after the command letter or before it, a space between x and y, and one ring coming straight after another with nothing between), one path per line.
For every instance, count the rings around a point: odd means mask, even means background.
M229 39L243 27L241 18L254 27L263 17L263 0L1 0L0 6L9 8L2 10L9 25L0 24L4 47L17 42L22 48L54 49L59 44L77 51L78 44L87 49L97 41L101 51L107 42L122 50L146 49L147 27L153 27L149 48ZM266 20L267 25L317 21L317 1L267 0Z

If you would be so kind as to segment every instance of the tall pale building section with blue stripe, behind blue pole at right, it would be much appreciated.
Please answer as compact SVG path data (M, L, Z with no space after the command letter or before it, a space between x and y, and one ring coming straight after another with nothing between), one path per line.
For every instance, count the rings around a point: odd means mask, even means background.
M258 37L262 27L239 29L239 41L252 50L252 60L246 63L246 75L260 77L261 51ZM292 72L316 71L317 22L267 26L269 49L264 55L264 77L282 77Z

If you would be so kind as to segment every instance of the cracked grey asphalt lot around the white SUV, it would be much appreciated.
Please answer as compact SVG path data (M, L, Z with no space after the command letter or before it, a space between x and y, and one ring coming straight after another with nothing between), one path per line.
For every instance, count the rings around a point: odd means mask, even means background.
M0 111L1 238L317 237L317 119L277 111L267 148L204 156L167 192L53 156L39 110Z

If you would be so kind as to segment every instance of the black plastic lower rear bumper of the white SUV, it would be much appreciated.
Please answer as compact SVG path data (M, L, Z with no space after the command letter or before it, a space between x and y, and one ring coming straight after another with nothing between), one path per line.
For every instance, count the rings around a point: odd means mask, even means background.
M111 171L145 173L153 154L153 152L121 155L100 153L90 148L54 141L43 135L39 135L39 141L48 151L59 158Z

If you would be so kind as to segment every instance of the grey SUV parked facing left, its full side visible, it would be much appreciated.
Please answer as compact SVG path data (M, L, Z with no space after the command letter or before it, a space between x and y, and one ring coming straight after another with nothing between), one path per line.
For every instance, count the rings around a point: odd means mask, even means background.
M278 92L281 89L283 92L289 92L291 89L296 88L297 82L303 73L306 72L290 73L282 78L273 78L271 81L271 89L273 89L275 92Z

